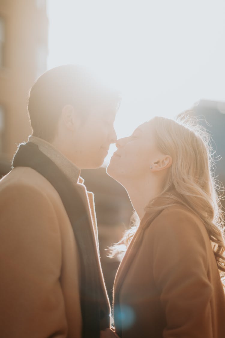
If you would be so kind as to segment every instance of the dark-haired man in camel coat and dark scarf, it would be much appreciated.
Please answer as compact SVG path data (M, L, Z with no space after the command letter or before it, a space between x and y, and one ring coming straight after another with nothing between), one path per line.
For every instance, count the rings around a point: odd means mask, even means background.
M73 65L31 88L33 134L0 181L1 337L95 338L110 326L93 195L80 171L103 164L118 105L118 93Z

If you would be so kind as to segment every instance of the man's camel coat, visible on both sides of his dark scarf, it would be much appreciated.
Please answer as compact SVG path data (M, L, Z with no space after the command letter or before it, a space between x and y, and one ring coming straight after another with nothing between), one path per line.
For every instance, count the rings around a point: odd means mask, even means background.
M31 140L49 150L44 141ZM53 158L59 166L64 162L68 176L73 173L71 184L86 203L97 246L93 194L66 158ZM0 234L0 337L81 338L76 239L59 194L35 170L17 167L1 180ZM106 292L99 257L97 262Z

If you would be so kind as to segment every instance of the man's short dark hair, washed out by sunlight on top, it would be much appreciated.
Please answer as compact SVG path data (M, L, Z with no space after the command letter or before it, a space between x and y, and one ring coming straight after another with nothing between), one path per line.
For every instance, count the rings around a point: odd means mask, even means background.
M35 81L27 108L33 136L51 142L66 104L85 120L92 108L117 110L119 103L119 93L101 85L86 68L64 65L48 70Z

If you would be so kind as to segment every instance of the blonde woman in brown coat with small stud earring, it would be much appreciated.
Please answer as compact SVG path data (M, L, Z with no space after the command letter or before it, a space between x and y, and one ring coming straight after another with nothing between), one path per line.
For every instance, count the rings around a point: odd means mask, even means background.
M128 246L114 284L116 334L224 338L223 218L206 132L155 117L116 146L107 172L140 219L113 248Z

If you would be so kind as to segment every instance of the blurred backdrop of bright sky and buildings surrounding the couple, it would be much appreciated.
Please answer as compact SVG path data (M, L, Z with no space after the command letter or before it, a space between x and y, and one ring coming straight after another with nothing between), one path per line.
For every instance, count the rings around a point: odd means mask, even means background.
M91 67L121 91L118 138L155 115L172 118L191 108L201 116L225 185L224 17L224 0L0 0L0 176L31 134L27 98L34 80L73 63ZM112 145L104 166L114 151ZM95 194L111 299L119 262L105 249L129 226L132 206L104 167L82 176Z

